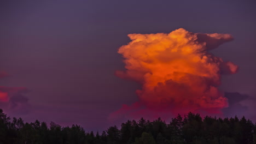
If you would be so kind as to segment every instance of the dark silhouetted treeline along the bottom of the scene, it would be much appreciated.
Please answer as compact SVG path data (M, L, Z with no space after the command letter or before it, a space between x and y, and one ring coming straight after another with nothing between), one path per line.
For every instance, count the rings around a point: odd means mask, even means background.
M170 123L161 118L153 122L141 118L109 127L101 134L86 132L79 125L61 127L53 122L24 123L21 118L10 119L0 109L0 143L25 144L169 144L169 143L256 143L256 125L242 117L202 119L199 114L178 115Z

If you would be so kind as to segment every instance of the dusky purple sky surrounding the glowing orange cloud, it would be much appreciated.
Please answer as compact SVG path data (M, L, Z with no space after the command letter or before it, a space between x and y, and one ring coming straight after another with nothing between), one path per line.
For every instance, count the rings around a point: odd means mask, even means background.
M225 116L256 122L255 1L1 1L0 86L15 87L11 117L104 130L109 115L138 101L141 85L120 79L119 47L132 33L228 33L234 40L211 50L238 65L222 75ZM4 88L2 88L4 89ZM1 90L1 88L0 88ZM4 90L2 90L4 91Z

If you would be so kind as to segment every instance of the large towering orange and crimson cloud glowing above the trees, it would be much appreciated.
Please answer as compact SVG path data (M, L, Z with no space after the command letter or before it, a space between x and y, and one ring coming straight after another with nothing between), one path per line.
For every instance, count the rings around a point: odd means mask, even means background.
M141 83L139 101L123 105L110 117L165 117L177 113L220 113L228 100L218 90L221 74L235 74L237 65L209 50L231 41L230 34L201 34L179 28L171 33L129 34L121 46L125 71L116 75Z

